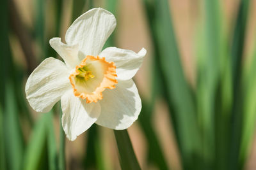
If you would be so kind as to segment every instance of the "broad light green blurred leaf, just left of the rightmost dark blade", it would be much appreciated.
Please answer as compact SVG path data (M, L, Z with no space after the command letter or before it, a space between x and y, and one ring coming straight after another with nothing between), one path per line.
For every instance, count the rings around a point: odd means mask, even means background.
M196 100L198 108L198 122L202 132L202 167L204 169L213 169L217 166L214 162L215 158L220 158L218 155L218 144L215 148L215 135L219 135L219 129L214 127L214 118L222 117L221 114L216 113L214 106L215 97L220 81L221 64L225 59L225 39L223 36L223 27L221 27L222 11L220 8L220 1L204 1L204 16L203 31L200 32L202 43L200 43L198 54L198 76L197 76L197 90ZM219 111L220 112L220 111ZM216 116L216 114L218 116ZM216 130L216 132L215 132ZM220 139L221 140L221 139ZM218 141L218 143L220 143ZM216 153L215 153L216 152ZM215 155L218 157L215 157Z

